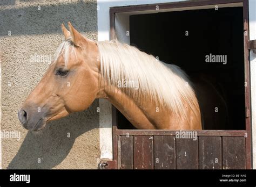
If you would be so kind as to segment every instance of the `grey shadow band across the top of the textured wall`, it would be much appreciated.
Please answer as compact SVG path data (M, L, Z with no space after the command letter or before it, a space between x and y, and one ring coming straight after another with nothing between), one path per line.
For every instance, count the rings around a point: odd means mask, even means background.
M32 2L36 1L28 1ZM68 21L80 32L97 31L97 2L91 1L3 9L1 16L4 18L0 19L1 36L7 36L9 31L12 35L61 33L60 25Z

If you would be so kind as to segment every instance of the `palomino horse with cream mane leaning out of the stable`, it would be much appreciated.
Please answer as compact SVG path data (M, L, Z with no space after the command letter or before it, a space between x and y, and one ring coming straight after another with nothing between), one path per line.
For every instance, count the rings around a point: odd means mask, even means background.
M94 42L69 23L65 41L18 117L24 128L109 100L138 129L200 130L196 93L184 71L117 41Z

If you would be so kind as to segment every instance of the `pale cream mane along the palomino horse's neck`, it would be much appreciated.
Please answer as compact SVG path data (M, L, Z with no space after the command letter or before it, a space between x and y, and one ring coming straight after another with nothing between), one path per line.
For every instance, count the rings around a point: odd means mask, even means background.
M194 109L198 106L192 83L183 70L166 64L138 48L117 40L99 41L100 73L110 85L120 80L138 81L138 89L128 89L133 97L150 96L156 105L162 104L177 118L187 114L184 103ZM126 89L127 90L127 89Z

